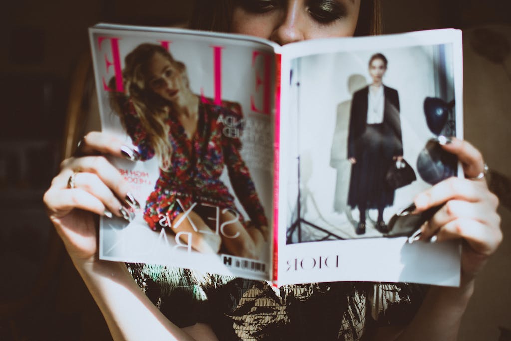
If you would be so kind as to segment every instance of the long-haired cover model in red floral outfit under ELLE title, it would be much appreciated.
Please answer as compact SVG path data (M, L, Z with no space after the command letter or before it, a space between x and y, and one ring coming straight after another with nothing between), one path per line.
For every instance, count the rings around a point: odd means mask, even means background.
M241 120L241 106L214 105L193 94L185 65L156 44L141 44L126 56L123 82L127 94L110 92L110 97L138 149L128 154L134 160L156 157L159 165L144 211L149 227L168 228L199 252L218 253L222 246L225 253L258 258L268 221L239 153L239 138L223 133L223 122ZM115 79L111 83L114 88ZM250 223L220 180L224 166ZM219 221L207 219L217 208ZM222 226L218 234L216 224Z

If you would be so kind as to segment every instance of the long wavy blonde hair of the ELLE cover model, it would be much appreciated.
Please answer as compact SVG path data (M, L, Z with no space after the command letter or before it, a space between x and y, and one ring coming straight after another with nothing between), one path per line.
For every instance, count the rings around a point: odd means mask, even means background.
M175 75L182 77L185 86L189 86L186 67L176 61L165 48L156 44L141 44L130 52L124 62L123 84L125 93L110 92L110 104L127 131L129 116L133 115L140 121L141 129L146 133L149 146L154 149L161 169L168 169L171 162L172 146L168 133L169 126L165 123L172 107L168 102L155 94L148 84L148 70L155 54L160 54L170 61L178 71ZM115 78L110 80L110 88L115 88Z

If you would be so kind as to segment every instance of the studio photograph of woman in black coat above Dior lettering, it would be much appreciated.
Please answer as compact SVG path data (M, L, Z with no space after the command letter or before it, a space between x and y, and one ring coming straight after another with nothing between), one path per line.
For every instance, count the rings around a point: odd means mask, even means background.
M452 63L450 44L294 61L288 243L407 236L433 214L413 215L410 205L458 174L456 158L440 147L462 124ZM321 73L318 64L337 72Z

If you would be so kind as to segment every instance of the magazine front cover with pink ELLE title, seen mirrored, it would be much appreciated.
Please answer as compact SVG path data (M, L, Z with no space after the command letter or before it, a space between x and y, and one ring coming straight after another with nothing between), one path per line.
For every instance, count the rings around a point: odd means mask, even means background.
M100 258L269 279L275 55L241 36L90 29L103 131L132 160ZM138 204L137 204L138 203Z

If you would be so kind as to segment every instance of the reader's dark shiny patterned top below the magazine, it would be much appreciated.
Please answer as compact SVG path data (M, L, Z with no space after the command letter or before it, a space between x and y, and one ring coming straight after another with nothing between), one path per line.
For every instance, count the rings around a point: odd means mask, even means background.
M180 327L205 322L229 340L362 340L379 326L406 326L426 286L332 282L283 286L128 263L149 299Z

